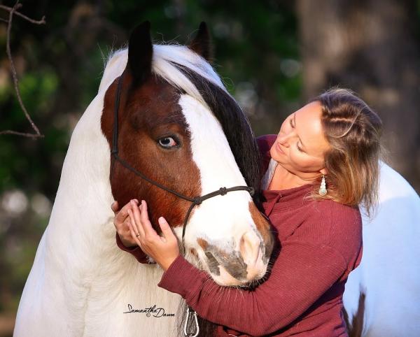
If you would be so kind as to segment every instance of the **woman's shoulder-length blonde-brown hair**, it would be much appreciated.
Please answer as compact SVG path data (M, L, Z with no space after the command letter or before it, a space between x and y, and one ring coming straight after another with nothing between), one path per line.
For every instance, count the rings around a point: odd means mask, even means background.
M334 87L311 101L321 103L321 124L330 144L325 153L328 194L316 198L360 204L371 215L377 204L381 119L349 89Z

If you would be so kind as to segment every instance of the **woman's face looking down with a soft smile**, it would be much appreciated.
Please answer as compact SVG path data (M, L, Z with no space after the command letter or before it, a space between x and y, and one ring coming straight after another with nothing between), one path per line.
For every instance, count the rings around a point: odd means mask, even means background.
M323 134L321 114L321 103L314 101L289 115L270 150L272 159L300 178L326 174L324 155L330 145Z

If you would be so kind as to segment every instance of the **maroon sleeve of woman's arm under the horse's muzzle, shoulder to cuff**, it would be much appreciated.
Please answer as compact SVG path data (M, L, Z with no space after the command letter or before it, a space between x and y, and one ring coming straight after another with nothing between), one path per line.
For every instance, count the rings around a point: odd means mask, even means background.
M267 280L253 290L221 287L182 256L167 268L158 286L183 296L206 320L251 336L272 334L300 317L360 263L358 210L334 201L318 203L316 210L310 222L281 242ZM323 230L308 234L307 229L318 224Z

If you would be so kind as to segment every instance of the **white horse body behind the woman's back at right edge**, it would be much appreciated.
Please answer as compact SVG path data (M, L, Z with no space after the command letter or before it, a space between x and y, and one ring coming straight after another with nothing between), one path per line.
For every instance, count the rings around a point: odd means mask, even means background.
M420 198L381 162L377 210L363 219L363 256L347 279L349 336L420 335Z

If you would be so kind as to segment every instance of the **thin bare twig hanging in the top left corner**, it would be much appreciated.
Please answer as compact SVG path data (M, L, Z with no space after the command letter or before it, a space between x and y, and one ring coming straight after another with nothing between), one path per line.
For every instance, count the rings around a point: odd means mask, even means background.
M39 137L43 137L43 134L41 134L39 132L38 127L36 127L34 121L31 119L31 116L29 115L29 113L27 111L27 108L25 107L25 105L22 101L22 97L20 96L18 74L17 74L16 69L15 69L15 62L13 62L12 52L10 51L10 31L12 29L13 14L19 15L20 17L23 17L25 20L28 20L29 22L34 23L34 24L45 24L45 20L44 20L45 17L42 17L42 19L38 20L38 21L33 20L33 19L27 17L26 15L23 15L23 14L17 12L16 10L18 10L18 8L20 8L20 7L22 7L22 4L19 3L19 0L16 1L15 6L13 6L13 8L0 5L0 9L8 10L8 12L9 12L8 25L7 25L7 37L6 37L6 52L7 52L9 62L10 62L10 70L12 72L13 84L15 85L16 96L18 97L20 108L22 108L23 112L25 113L25 116L27 117L27 120L31 124L32 129L34 129L35 134L27 134L27 133L24 133L24 132L18 132L18 131L12 131L12 130L0 131L0 134L15 134L15 135L19 135L19 136L39 138Z

